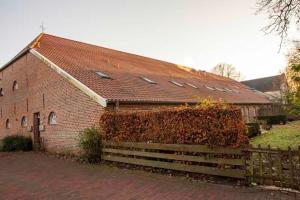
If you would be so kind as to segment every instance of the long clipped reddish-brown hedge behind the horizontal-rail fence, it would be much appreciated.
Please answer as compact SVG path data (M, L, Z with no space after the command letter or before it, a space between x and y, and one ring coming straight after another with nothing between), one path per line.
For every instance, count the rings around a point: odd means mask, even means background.
M248 144L242 113L232 106L107 112L101 116L100 129L102 138L112 141L210 146Z

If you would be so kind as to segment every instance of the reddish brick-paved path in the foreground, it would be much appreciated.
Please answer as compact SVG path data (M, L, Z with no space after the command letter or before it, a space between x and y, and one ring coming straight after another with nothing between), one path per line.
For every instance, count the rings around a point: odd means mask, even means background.
M191 182L40 153L0 153L0 199L300 199L299 194Z

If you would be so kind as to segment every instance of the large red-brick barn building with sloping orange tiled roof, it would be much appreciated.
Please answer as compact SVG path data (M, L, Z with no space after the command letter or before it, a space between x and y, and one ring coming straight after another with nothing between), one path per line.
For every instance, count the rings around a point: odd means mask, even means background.
M77 148L101 113L223 98L246 120L271 102L234 80L164 61L39 35L0 69L0 138L30 135L48 151Z

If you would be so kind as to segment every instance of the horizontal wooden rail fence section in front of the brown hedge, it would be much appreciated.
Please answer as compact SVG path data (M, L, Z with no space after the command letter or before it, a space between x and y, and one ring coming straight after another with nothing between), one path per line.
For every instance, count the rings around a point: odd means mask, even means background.
M205 145L103 142L106 161L176 171L246 178L244 152Z

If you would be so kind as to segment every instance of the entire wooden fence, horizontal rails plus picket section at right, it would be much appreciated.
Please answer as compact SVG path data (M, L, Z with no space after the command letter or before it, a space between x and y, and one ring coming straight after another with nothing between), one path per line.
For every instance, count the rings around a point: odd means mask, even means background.
M205 145L103 142L112 162L245 179L248 183L300 190L298 150L210 148Z

